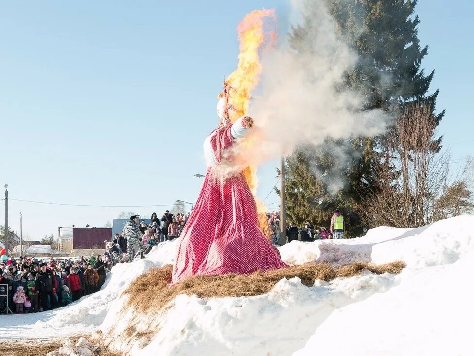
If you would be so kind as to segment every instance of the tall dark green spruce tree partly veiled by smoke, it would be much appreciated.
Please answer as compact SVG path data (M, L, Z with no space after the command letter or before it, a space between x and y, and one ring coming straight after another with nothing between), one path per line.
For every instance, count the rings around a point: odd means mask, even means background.
M396 117L410 103L430 105L435 109L438 90L429 94L434 71L425 74L421 61L428 47L421 48L418 39L418 16L414 16L416 0L324 0L330 15L336 22L340 37L358 54L354 68L345 75L344 85L357 90L365 98L365 110L383 109ZM289 42L297 53L315 52L315 41L311 38L317 11L317 1L307 1L302 24L293 28ZM432 114L437 123L444 111ZM349 215L348 227L357 235L363 225L357 211L363 207L364 199L373 193L374 169L384 152L384 137L360 137L335 143L352 150L343 162L334 150L305 147L288 157L286 190L288 215L295 220L314 216L317 225L327 224L335 207ZM439 150L441 138L433 142ZM348 149L345 148L345 149ZM337 152L336 152L337 153ZM334 163L335 167L334 167ZM314 181L308 178L315 170ZM336 170L337 172L335 172ZM347 184L337 192L331 192L328 177L346 176ZM303 196L315 194L309 204ZM317 212L317 213L316 213ZM298 219L296 217L298 216ZM321 219L321 220L319 220Z

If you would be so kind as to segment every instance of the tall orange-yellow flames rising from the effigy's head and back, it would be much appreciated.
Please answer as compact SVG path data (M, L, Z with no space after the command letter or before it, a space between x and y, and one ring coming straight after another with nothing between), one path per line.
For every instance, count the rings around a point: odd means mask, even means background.
M239 23L239 63L237 69L224 81L224 91L221 97L227 98L228 118L235 122L239 117L246 115L250 104L252 90L257 86L259 76L262 72L260 64L259 49L266 38L275 38L275 32L263 30L265 18L275 19L275 10L254 10L247 14ZM258 119L258 118L257 118ZM247 145L252 145L252 140L247 140ZM257 189L256 167L247 167L242 172L250 190L255 195ZM266 219L266 207L257 200L260 227L270 237L268 221Z

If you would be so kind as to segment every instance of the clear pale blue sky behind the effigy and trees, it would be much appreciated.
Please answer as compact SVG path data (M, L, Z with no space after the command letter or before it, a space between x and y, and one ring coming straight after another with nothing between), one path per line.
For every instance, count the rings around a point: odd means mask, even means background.
M10 198L93 205L193 202L215 127L216 95L236 66L236 26L253 9L283 0L8 1L0 12L1 186ZM421 0L422 66L447 113L440 125L453 158L473 153L474 3ZM258 118L257 118L258 119ZM275 184L275 162L259 171L258 195ZM1 194L3 195L3 193ZM278 198L270 195L266 203ZM272 205L271 208L277 208ZM31 239L58 226L102 226L123 210L10 201L9 225ZM4 202L0 221L3 224Z

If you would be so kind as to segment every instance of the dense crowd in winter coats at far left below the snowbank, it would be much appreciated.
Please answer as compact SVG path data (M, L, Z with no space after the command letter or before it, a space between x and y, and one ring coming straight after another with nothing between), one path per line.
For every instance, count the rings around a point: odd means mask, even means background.
M0 263L0 313L8 312L7 298L8 307L17 314L66 306L100 290L109 264L106 253L104 257L94 253L75 262L51 257L45 263L35 258L11 257Z

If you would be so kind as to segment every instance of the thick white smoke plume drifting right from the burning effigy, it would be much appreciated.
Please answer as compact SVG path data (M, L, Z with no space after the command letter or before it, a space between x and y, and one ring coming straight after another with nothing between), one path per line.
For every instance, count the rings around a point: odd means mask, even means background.
M245 147L241 152L247 163L258 165L308 143L324 145L328 137L376 136L390 121L381 110L363 111L360 93L341 90L357 54L338 37L323 2L315 2L319 11L312 12L312 43L306 49L296 53L286 43L263 53L260 89L249 109L259 133L252 152L246 154ZM304 12L299 3L293 5Z

